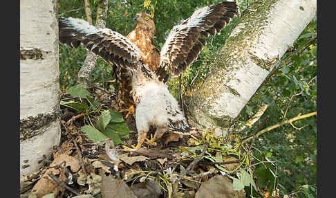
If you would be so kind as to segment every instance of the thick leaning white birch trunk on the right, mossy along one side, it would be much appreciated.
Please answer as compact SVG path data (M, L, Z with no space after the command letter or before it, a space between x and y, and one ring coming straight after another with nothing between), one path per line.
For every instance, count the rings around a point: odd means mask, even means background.
M187 91L189 123L225 134L263 80L316 15L316 0L258 0L214 60L209 77Z

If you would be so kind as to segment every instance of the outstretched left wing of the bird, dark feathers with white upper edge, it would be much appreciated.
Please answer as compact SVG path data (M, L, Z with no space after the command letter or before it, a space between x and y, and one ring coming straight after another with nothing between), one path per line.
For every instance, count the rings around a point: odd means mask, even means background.
M100 55L125 69L138 69L148 73L149 69L141 59L139 48L126 37L109 28L96 28L83 19L59 18L59 42L73 48L83 44L86 49Z

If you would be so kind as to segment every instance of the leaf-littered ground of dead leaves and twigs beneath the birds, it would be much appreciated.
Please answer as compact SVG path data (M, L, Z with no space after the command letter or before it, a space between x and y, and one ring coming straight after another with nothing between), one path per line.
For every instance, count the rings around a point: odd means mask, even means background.
M90 92L104 109L118 110L108 91ZM78 98L63 93L61 100ZM221 143L211 132L198 130L187 136L167 132L156 146L143 143L134 149L138 135L130 116L125 122L133 133L122 143L114 145L111 138L94 143L81 130L85 115L62 105L61 110L61 143L38 172L25 176L21 197L245 197L245 185L232 183L242 164L235 141Z

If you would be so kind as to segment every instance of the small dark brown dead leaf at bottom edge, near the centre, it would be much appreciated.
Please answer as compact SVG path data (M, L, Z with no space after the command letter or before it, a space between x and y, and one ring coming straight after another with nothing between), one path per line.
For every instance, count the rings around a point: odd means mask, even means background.
M161 189L160 186L158 186L158 181L136 183L131 187L131 190L138 198L158 198L161 195Z

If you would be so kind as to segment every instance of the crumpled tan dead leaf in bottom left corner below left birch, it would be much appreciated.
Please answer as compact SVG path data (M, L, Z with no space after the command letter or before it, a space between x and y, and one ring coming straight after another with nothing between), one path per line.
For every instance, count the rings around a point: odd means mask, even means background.
M58 175L58 179L60 181L64 181L65 175L60 174L61 172L56 168L49 168L46 170L44 175L35 183L35 186L32 188L32 194L36 195L37 198L41 198L44 195L48 195L50 193L53 193L54 195L63 195L65 188L62 186L59 186L53 179L51 179L48 174Z

